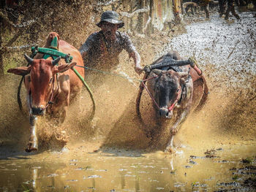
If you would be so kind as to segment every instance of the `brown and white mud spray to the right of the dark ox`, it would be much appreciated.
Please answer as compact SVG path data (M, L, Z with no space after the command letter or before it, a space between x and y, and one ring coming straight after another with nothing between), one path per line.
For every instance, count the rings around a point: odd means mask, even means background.
M195 55L208 80L209 99L200 114L191 116L179 136L200 145L255 142L256 68L255 18L194 23L168 45L182 56ZM183 133L181 133L183 132ZM195 142L199 140L201 142Z

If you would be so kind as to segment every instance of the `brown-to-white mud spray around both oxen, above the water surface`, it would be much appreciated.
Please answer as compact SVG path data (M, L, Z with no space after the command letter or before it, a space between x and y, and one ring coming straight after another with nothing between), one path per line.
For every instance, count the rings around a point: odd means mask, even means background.
M178 132L176 146L200 147L203 143L205 150L214 145L254 140L256 27L252 13L245 12L241 17L239 21L212 18L189 25L186 34L172 39L155 56L158 58L168 50L178 50L184 58L195 55L208 81L208 102L201 112L189 115ZM112 74L86 70L86 82L97 104L94 120L88 121L92 104L85 88L80 99L69 107L64 124L56 126L49 118L41 118L38 133L43 150L53 146L61 148L66 142L69 147L86 142L89 151L99 147L148 149L152 147L149 145L154 145L145 134L155 128L151 100L143 93L140 105L147 124L143 127L135 115L141 77L135 74L132 60L126 53L121 54L120 61ZM1 80L0 141L1 145L22 150L29 139L29 120L18 110L19 80L20 77L12 75ZM26 93L24 88L22 90L23 105L27 109Z

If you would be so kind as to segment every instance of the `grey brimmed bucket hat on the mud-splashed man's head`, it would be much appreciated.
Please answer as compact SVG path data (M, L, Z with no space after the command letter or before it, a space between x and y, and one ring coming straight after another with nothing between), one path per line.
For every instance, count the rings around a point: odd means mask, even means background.
M96 25L100 27L102 25L103 21L106 21L108 23L118 24L118 28L121 28L124 26L124 22L122 20L118 20L118 13L114 11L106 11L102 13L102 18L100 19L99 23Z

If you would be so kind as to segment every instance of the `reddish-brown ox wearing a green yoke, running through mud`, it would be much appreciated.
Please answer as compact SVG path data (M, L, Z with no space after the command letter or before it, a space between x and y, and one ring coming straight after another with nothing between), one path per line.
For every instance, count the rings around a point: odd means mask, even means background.
M58 38L59 51L72 55L72 63L66 64L64 59L51 57L42 58L42 54L35 55L34 59L25 55L29 66L20 66L9 69L7 72L26 75L24 84L27 91L27 100L29 104L29 123L31 126L31 136L26 152L37 150L37 116L48 114L59 118L59 122L63 123L67 115L67 107L69 102L78 96L83 83L79 80L71 67L75 64L83 66L83 59L79 51L69 45L67 42L59 39L59 34L51 32L48 36L45 47L50 47L50 42L54 37ZM57 65L59 64L59 65ZM78 72L84 76L83 68L76 68Z

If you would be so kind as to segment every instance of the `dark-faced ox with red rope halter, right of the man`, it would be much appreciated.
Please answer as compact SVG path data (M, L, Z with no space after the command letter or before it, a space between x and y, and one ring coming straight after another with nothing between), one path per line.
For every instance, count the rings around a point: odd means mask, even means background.
M170 61L180 66L181 72L173 69L153 69L153 66L161 64L167 56ZM162 63L163 64L163 63ZM154 142L161 140L161 148L165 151L173 150L173 136L177 133L181 123L187 118L189 112L200 110L206 103L208 96L208 87L202 72L197 66L191 67L190 61L182 61L176 51L167 53L167 55L154 61L152 71L146 75L148 93L154 101L154 109L157 114L157 124L162 130L161 133L155 133L153 130L150 137L161 135L160 138L153 138ZM176 68L177 69L177 68ZM143 91L143 83L140 85L140 91L137 98L137 113L140 117L140 97ZM140 118L140 120L142 120ZM170 134L166 134L167 130ZM156 144L156 143L154 143Z

